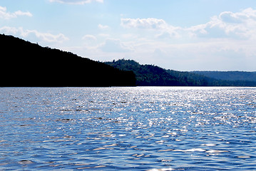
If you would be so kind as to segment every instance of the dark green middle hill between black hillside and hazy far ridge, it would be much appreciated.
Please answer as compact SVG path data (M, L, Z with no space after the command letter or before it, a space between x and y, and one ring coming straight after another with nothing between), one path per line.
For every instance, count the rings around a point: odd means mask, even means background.
M256 86L256 81L225 81L197 73L165 70L158 66L140 65L133 60L106 62L123 71L133 71L138 86Z

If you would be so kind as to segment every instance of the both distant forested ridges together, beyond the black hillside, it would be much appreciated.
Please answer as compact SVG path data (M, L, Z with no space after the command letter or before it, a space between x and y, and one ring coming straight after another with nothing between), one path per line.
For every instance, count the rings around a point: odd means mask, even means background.
M106 64L123 71L133 71L137 86L256 86L256 72L173 71L153 65L141 65L136 61L125 59Z

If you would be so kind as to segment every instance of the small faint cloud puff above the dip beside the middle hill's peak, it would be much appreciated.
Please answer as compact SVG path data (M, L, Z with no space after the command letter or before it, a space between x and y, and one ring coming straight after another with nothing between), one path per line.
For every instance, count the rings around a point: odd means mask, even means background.
M106 42L99 46L101 51L104 52L115 52L115 53L122 53L131 51L131 48L126 46L124 43L121 43L119 39L106 39Z

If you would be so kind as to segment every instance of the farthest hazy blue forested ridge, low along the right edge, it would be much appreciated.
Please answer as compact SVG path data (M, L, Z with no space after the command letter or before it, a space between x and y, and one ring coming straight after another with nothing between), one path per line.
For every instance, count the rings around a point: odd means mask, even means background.
M193 71L210 78L226 81L256 81L256 72L244 71Z

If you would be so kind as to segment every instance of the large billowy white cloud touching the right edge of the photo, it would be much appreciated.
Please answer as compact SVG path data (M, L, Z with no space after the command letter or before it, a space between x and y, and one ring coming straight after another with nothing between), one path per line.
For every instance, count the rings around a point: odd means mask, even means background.
M198 37L255 39L255 28L256 10L249 8L237 13L224 11L219 16L213 16L208 23L187 30Z

